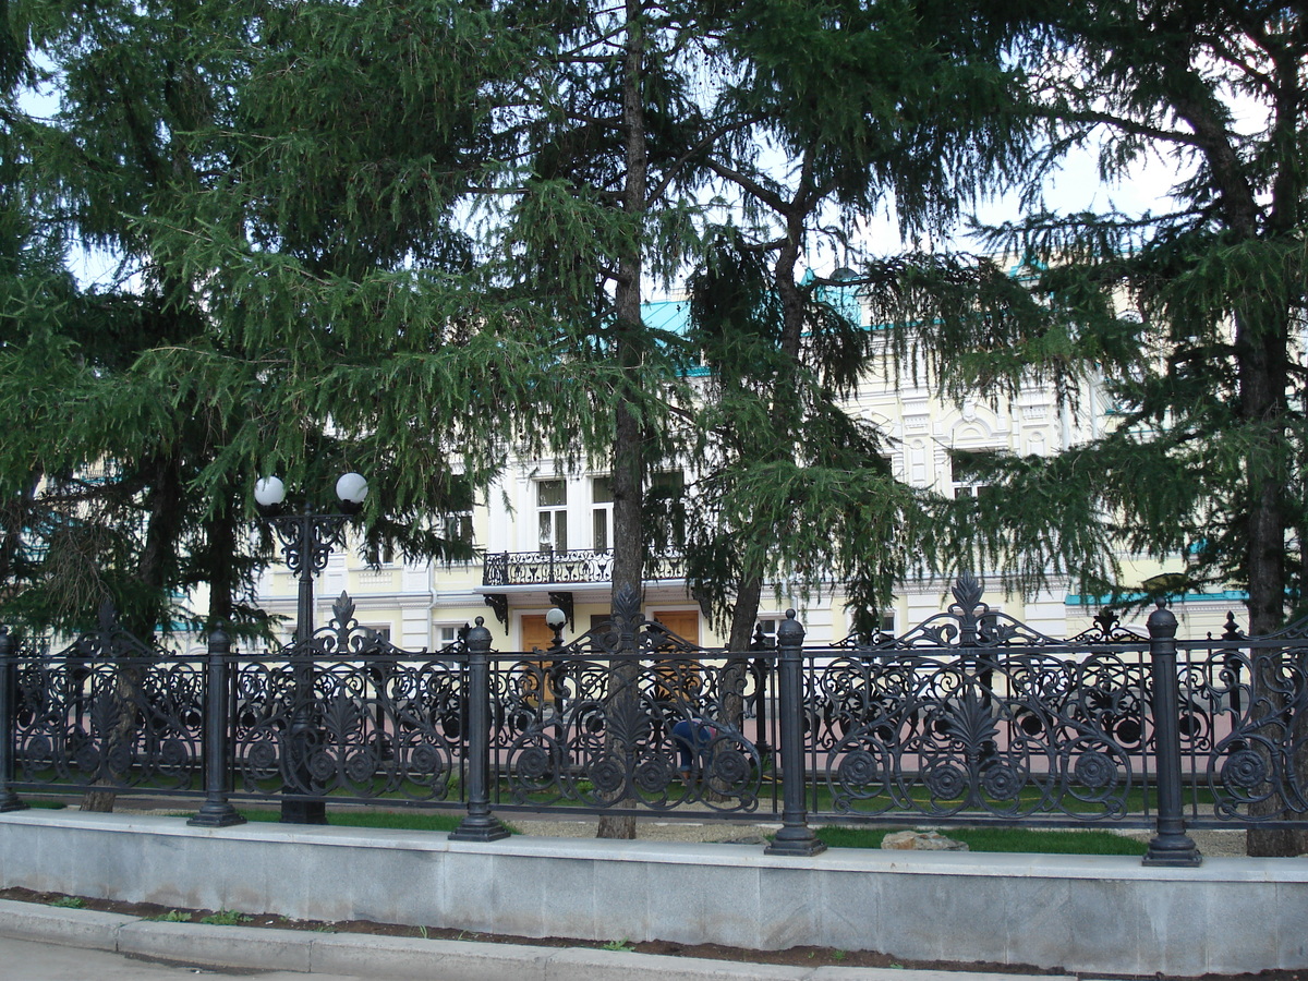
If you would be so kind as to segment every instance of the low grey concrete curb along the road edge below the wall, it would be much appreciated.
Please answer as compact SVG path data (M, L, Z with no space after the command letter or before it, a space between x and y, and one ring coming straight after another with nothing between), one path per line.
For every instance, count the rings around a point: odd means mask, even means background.
M239 934L235 931L241 931ZM366 934L170 923L0 900L0 937L204 967L356 974L388 981L1015 981L1020 974L778 964L589 947L424 940ZM1074 981L1042 974L1042 981Z

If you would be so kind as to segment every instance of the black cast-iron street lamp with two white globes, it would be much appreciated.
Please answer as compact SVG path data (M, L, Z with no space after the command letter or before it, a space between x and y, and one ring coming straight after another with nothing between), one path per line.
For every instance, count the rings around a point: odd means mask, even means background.
M300 514L284 514L286 485L277 477L263 477L254 485L259 514L281 544L286 568L300 579L296 607L296 638L292 647L292 698L294 708L288 731L288 752L301 789L310 786L309 751L317 738L313 721L313 646L314 576L327 568L327 557L336 545L344 545L345 525L358 514L368 497L368 481L360 473L344 473L336 481L340 510L319 514L309 501ZM326 824L327 806L322 800L281 802L283 824Z

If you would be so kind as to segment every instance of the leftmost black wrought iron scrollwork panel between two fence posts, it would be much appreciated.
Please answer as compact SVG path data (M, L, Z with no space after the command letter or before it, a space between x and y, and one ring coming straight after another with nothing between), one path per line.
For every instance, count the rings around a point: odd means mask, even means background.
M17 783L161 793L200 789L203 663L95 661L82 657L88 651L81 646L20 659Z

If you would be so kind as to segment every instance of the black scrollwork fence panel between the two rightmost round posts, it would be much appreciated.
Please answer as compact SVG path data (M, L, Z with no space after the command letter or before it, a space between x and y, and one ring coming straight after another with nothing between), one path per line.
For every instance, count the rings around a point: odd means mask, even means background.
M829 794L815 810L1121 820L1147 773L1139 653L811 657L808 671L810 752Z

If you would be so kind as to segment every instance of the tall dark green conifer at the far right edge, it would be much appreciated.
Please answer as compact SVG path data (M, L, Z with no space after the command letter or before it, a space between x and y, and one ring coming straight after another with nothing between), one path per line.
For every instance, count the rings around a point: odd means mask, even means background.
M904 344L935 352L950 388L1049 382L1087 411L1101 390L1116 413L1052 458L965 460L1007 493L948 525L955 548L1091 594L1239 585L1250 632L1267 633L1304 583L1305 12L1108 0L1020 16L1023 111L1046 129L1045 162L1097 146L1103 175L1124 178L1162 158L1175 205L1056 215L1033 188L1028 217L985 239L1022 281L969 256L871 271L874 315L916 324ZM1124 545L1181 570L1124 582ZM1249 844L1308 850L1291 832Z

